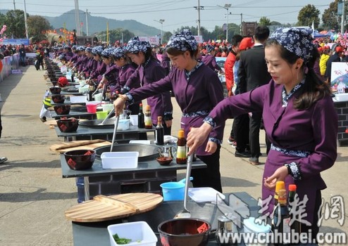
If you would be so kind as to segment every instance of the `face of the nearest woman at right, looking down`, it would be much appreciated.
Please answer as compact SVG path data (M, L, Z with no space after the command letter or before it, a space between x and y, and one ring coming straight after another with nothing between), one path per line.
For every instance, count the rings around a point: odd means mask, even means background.
M289 64L280 57L280 48L277 46L266 46L265 60L272 79L276 84L293 84L298 80L297 63Z

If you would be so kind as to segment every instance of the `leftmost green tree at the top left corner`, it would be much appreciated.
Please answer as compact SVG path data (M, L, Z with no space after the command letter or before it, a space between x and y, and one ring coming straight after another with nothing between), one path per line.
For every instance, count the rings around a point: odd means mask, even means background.
M27 17L29 15L27 14ZM8 11L5 15L5 25L7 26L6 34L8 38L23 39L25 38L25 21L24 11Z

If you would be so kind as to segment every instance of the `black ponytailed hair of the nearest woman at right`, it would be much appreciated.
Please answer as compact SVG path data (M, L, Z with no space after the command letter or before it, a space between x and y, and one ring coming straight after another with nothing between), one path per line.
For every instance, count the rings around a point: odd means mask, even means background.
M278 41L274 39L268 39L266 42L267 46L276 46L279 48L280 57L287 61L290 65L296 63L297 59L300 58L295 53L288 51L286 48L281 46ZM330 95L330 86L323 82L323 79L319 77L316 72L314 72L313 67L316 63L316 60L320 57L318 49L314 48L313 56L303 63L302 67L299 69L308 70L306 74L306 80L303 86L302 94L294 100L294 108L298 110L306 110L311 108L311 106L324 98L327 95Z

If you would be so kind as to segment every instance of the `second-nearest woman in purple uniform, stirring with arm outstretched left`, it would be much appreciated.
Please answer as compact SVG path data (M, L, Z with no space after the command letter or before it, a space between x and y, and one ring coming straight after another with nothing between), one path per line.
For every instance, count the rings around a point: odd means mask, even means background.
M223 100L223 86L216 72L197 61L198 43L189 30L182 30L170 38L166 52L175 69L168 76L121 95L115 102L120 112L125 101L139 101L143 98L173 91L182 110L181 127L185 134L191 127L199 127L204 117ZM207 168L192 169L194 187L211 187L222 192L220 181L220 143L225 123L211 131L205 141L209 146L197 148L196 154Z

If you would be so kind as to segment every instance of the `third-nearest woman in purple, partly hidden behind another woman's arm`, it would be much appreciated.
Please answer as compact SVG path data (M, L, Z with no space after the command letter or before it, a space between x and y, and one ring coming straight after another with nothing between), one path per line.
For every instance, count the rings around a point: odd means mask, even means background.
M138 37L130 39L127 46L127 56L132 60L133 63L137 64L138 67L132 76L129 77L123 92L130 91L130 89L137 88L139 81L142 86L159 81L166 76L166 71L159 60L153 56L151 46L148 41L140 41ZM137 100L141 101L141 100ZM154 95L147 96L147 105L151 107L151 121L154 126L157 124L157 118L162 117L164 124L164 134L171 134L172 127L172 115L173 105L170 99L169 91L162 91Z

